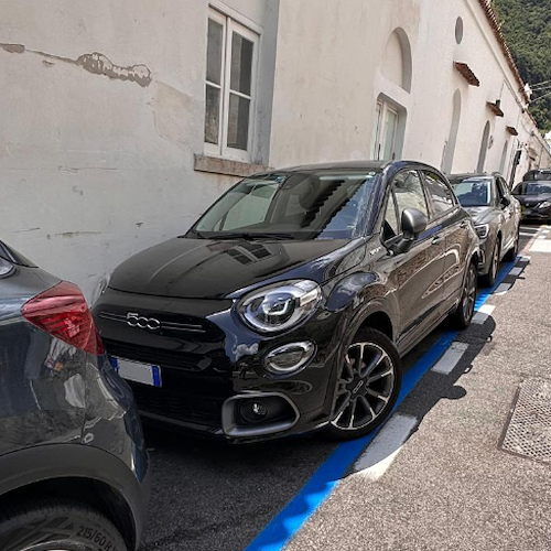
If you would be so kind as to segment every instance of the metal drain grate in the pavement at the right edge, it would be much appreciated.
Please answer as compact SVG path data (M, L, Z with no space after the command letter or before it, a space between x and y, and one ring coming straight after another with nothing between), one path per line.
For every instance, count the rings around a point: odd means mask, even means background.
M521 385L500 447L551 463L551 381L527 379Z

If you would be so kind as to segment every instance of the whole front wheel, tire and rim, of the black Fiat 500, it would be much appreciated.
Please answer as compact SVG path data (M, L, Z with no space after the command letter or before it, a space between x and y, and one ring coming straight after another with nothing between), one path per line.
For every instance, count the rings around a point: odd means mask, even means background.
M342 361L325 435L345 441L371 432L392 412L401 382L401 360L392 341L377 329L360 328Z

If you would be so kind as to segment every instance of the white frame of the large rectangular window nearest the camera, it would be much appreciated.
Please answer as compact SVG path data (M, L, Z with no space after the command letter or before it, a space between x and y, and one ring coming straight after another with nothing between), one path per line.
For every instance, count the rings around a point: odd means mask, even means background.
M223 13L214 8L208 9L208 19L216 21L223 26L223 51L222 51L222 78L220 85L214 84L206 79L205 73L205 94L206 85L214 86L220 89L220 117L218 125L218 144L207 143L205 141L205 153L212 156L219 156L231 161L241 161L250 163L252 161L252 145L253 133L256 126L256 98L257 98L257 80L258 80L258 54L260 46L260 35L249 28L236 21L233 17ZM207 26L208 29L208 26ZM250 83L250 97L236 90L230 90L231 83L231 40L234 32L240 34L245 39L252 42L252 66L251 66L251 83ZM208 32L207 32L208 41ZM206 71L206 63L205 63ZM249 129L247 140L247 151L230 148L228 142L228 122L229 122L229 95L235 94L244 98L250 99L249 101ZM206 106L206 104L205 104ZM206 118L206 110L205 110Z

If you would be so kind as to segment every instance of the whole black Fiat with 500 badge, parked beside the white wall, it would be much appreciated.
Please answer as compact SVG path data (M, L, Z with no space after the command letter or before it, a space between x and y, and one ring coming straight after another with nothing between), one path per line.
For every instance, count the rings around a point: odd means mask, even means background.
M414 162L248 177L185 235L123 262L94 307L145 419L249 441L363 435L392 410L400 356L471 322L478 236Z

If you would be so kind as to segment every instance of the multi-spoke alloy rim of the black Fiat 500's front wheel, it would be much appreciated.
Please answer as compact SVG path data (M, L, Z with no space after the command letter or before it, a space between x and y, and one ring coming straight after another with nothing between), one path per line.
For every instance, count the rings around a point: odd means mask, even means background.
M390 356L375 343L354 343L345 357L337 383L332 424L357 431L387 410L396 380Z

